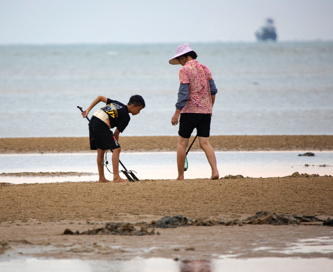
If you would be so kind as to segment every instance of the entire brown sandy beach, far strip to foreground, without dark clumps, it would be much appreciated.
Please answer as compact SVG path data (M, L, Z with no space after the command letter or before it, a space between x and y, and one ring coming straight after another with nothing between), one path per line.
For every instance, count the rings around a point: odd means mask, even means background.
M125 151L175 150L176 137L122 137ZM333 150L333 136L212 136L215 150ZM194 149L198 149L194 145ZM1 153L86 152L88 138L2 138ZM91 173L52 172L50 176ZM5 173L3 175L12 175ZM45 173L19 173L16 176ZM18 177L19 178L19 177ZM1 176L0 176L1 181ZM258 211L333 218L333 177L295 173L286 177L0 183L0 260L52 257L131 259L164 257L213 259L232 251L241 257L280 257L260 246L287 248L308 237L332 237L332 227L309 222L282 226L214 225L155 229L160 235L62 235L104 226L106 222L151 222L182 215L192 220L243 220ZM139 225L140 225L139 224ZM140 226L136 226L140 229ZM266 242L261 242L266 241ZM147 250L147 248L155 248ZM34 249L34 250L32 250ZM295 253L328 257L333 253Z

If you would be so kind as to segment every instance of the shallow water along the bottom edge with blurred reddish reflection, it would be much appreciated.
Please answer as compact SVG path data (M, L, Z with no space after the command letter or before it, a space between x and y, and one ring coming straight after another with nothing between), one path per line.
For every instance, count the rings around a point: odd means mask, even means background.
M2 272L63 271L63 272L222 272L258 270L285 272L331 272L333 260L327 258L222 258L213 260L179 260L166 258L135 258L132 260L81 260L81 259L24 259L0 262Z

